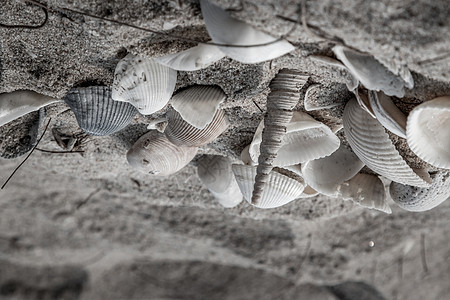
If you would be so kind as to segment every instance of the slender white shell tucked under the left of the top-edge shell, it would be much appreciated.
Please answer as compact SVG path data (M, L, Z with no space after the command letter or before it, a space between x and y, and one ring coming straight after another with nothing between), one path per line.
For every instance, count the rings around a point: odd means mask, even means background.
M171 69L178 71L197 71L221 60L225 54L219 47L208 44L199 44L193 48L162 57L155 60Z

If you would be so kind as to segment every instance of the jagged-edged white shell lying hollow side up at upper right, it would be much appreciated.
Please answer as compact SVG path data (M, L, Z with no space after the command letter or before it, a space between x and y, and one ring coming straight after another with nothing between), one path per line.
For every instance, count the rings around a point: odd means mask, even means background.
M388 96L401 98L405 95L405 85L410 86L400 76L390 72L372 55L356 52L340 45L334 46L333 52L368 90L381 90Z

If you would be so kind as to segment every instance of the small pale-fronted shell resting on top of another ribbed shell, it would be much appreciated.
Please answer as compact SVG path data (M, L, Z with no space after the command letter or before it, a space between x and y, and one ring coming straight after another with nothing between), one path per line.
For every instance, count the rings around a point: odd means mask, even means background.
M219 87L194 85L174 95L170 102L186 122L203 129L211 123L225 98L225 93Z

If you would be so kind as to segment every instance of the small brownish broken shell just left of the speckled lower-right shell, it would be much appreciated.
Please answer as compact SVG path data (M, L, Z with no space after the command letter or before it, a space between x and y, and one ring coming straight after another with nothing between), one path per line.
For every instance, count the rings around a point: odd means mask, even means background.
M375 175L356 175L339 187L339 196L344 200L352 200L362 207L392 213L386 201L383 182Z

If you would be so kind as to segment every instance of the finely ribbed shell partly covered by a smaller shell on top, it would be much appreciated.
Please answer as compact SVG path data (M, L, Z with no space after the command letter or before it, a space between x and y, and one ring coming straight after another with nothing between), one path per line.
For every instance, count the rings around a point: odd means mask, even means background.
M167 112L168 124L164 133L175 145L199 147L211 143L228 128L228 120L221 109L205 128L198 129L183 120L174 109Z

